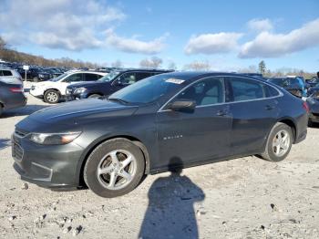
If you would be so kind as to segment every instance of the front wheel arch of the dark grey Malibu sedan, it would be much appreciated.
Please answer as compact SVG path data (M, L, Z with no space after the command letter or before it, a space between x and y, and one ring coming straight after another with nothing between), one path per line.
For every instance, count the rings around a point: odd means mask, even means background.
M90 153L92 151L94 151L98 147L99 144L101 144L105 141L114 140L114 139L129 140L129 141L133 142L136 146L138 146L140 151L142 152L144 160L145 160L144 173L149 174L149 168L150 168L149 167L149 163L150 163L149 151L141 140L139 140L137 137L134 137L131 135L123 135L123 134L108 136L108 137L104 137L102 139L98 139L98 140L94 141L93 143L91 143L91 145L88 146L87 151L85 151L83 153L81 161L78 163L78 166L77 166L77 178L78 178L79 186L86 185L86 183L84 182L84 178L83 178L83 171L84 171L84 167L86 165L86 162L87 162L87 159L88 159L88 156L90 155Z

